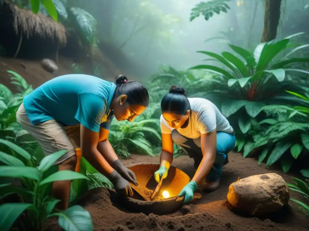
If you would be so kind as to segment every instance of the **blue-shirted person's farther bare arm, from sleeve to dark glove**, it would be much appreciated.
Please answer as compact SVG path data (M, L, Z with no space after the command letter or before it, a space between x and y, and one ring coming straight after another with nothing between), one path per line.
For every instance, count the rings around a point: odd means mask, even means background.
M108 163L112 164L115 160L118 160L118 156L112 148L112 145L108 141L108 134L108 129L100 128L99 143L97 149L108 161Z

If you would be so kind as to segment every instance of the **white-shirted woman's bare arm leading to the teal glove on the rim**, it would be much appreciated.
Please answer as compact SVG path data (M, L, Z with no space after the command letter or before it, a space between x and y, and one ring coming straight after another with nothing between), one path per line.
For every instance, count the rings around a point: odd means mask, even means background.
M217 131L201 134L203 158L192 180L199 184L208 174L216 159Z

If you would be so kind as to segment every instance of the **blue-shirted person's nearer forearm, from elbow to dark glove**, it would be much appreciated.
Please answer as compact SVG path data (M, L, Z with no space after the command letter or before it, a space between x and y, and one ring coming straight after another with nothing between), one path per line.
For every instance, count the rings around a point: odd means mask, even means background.
M101 174L108 177L112 174L114 169L108 164L108 162L104 159L101 153L95 149L91 150L90 152L87 150L82 150L83 156L86 160Z

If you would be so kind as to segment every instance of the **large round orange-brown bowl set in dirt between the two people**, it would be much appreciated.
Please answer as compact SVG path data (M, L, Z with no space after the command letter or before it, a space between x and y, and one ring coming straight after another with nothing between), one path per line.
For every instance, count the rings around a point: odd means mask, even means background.
M167 177L163 180L157 197L150 201L150 196L158 183L155 181L154 173L159 169L159 164L134 164L129 166L136 176L138 186L131 184L133 188L133 197L115 198L121 201L121 205L133 213L145 213L146 215L154 213L164 215L174 213L183 205L183 197L178 197L182 188L190 182L190 177L179 168L171 166ZM164 198L163 192L168 192L169 197ZM197 194L195 199L200 198Z

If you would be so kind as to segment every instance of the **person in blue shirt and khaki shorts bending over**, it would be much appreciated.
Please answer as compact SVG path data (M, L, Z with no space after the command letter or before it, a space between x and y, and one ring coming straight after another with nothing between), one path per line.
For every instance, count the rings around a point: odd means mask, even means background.
M117 193L132 195L129 182L138 185L136 177L118 159L108 133L114 117L131 122L148 103L147 89L124 75L112 83L71 74L51 79L27 95L16 119L35 137L45 155L67 150L54 163L59 171L74 171L75 147L80 146L83 157L112 182ZM68 136L68 126L80 126L75 139ZM53 183L53 196L61 200L59 209L68 208L70 186L70 180Z

